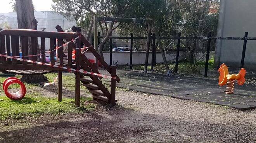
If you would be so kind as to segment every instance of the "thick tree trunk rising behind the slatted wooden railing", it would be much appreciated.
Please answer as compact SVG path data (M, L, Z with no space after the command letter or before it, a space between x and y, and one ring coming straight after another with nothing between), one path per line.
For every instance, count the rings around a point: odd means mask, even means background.
M34 29L37 30L37 21L34 15L34 7L32 0L15 0L16 2L16 13L19 29ZM36 45L38 41L36 40ZM31 49L37 48L31 47L31 38L28 38L28 52L31 55ZM47 77L44 75L22 75L21 80L24 82L38 83L47 81Z

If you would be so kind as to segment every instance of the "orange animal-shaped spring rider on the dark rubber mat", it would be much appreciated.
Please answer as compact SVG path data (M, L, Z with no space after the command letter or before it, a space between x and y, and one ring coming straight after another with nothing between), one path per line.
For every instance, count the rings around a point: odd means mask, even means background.
M219 85L223 86L227 84L226 94L232 94L234 92L235 80L237 80L238 85L243 85L245 82L244 76L246 75L246 70L244 68L242 68L238 74L230 75L228 73L228 66L223 63L220 65L218 71L220 72Z

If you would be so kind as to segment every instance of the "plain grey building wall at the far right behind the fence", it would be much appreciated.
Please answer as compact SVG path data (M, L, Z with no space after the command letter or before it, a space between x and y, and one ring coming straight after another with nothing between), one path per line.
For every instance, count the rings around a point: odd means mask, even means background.
M219 37L256 37L256 0L221 0L218 21ZM217 40L215 65L222 63L240 68L243 40ZM247 41L244 67L256 70L256 41Z

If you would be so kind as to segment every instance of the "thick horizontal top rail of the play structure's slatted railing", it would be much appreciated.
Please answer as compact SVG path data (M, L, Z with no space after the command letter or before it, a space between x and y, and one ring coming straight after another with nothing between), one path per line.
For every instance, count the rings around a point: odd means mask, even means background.
M60 38L60 39L74 39L79 34L76 32L48 32L36 31L32 29L2 29L0 35L12 36L30 36L30 37L46 37L46 38Z

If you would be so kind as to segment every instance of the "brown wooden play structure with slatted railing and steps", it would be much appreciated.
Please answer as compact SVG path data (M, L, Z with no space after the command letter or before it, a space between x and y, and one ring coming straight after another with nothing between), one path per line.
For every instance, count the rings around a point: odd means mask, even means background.
M78 71L74 72L76 106L80 106L80 82L92 93L93 99L104 100L114 105L116 103L116 82L120 81L120 78L116 75L116 67L107 65L93 46L81 35L79 28L73 27L75 32L68 33L64 32L60 26L56 26L56 29L58 32L2 29L0 31L0 70L16 74L43 74L57 71L58 100L62 101L62 72L71 71L70 69L72 68L73 72L74 69ZM41 39L41 49L37 48L38 37ZM45 60L46 38L50 38L49 63ZM31 51L29 51L28 41L31 41ZM66 44L64 44L65 41L67 41ZM86 58L84 52L81 52L81 43L86 47L86 52L91 52L110 73L112 77L110 92L100 81L102 77L98 76L100 72L97 66ZM63 52L64 45L68 47L67 54ZM55 49L57 49L57 59L55 58ZM72 59L73 49L76 51L75 59ZM20 51L22 59L20 58ZM81 70L87 73L79 72Z

